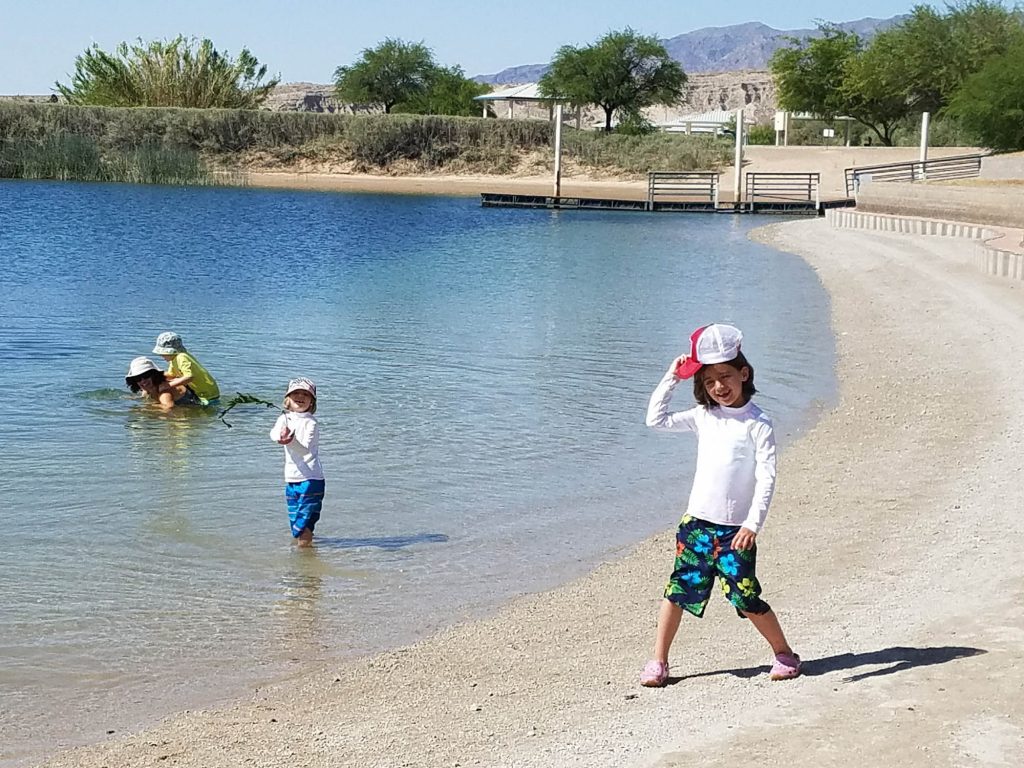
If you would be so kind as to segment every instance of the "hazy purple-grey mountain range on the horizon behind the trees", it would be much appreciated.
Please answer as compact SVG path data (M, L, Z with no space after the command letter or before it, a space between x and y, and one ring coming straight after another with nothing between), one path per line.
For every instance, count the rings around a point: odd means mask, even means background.
M836 26L870 38L906 18L861 18ZM706 27L684 35L663 40L669 54L683 66L687 74L697 72L734 72L736 70L765 70L768 60L779 48L787 44L786 38L817 37L817 30L775 30L760 22L749 22L731 27ZM509 83L536 83L548 71L548 65L519 65L509 67L494 75L478 75L481 83L505 85Z

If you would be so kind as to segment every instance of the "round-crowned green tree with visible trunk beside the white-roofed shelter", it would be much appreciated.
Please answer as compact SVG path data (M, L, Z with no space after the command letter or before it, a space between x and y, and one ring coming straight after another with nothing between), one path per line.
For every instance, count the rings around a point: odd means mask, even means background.
M685 84L683 68L657 38L626 29L583 48L559 48L540 90L578 104L598 104L604 110L604 130L610 131L616 110L638 113L651 104L675 103Z

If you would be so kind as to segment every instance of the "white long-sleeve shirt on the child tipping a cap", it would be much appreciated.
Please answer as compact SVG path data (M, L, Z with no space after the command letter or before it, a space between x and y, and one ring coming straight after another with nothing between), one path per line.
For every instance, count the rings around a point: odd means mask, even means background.
M761 532L775 490L771 419L753 401L740 408L697 406L669 413L678 383L672 372L658 382L647 407L647 426L697 434L697 466L686 513Z

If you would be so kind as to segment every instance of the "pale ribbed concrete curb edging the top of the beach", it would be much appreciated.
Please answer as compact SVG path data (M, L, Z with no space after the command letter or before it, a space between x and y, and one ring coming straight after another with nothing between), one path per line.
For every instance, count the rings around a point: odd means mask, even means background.
M862 213L849 208L826 210L825 220L837 229L867 229L969 240L972 241L971 261L980 271L997 278L1024 281L1024 253L989 246L987 241L1002 239L1006 234L989 226L912 216L891 216L884 213Z

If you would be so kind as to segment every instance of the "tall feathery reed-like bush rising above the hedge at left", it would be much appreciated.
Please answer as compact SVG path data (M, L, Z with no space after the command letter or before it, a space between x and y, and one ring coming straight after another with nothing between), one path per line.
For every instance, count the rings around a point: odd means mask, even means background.
M265 75L248 48L232 60L209 40L179 35L121 43L116 53L94 44L75 59L71 84L56 89L72 104L255 110L280 82L260 84Z

